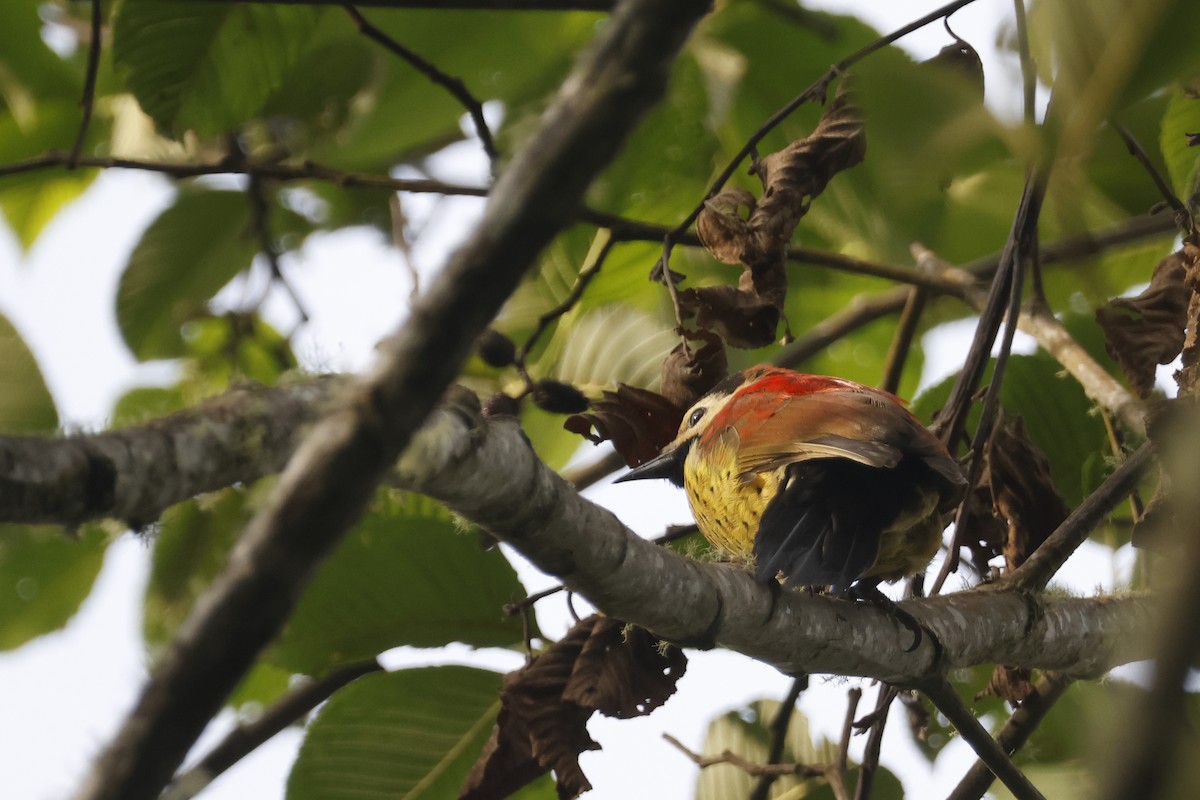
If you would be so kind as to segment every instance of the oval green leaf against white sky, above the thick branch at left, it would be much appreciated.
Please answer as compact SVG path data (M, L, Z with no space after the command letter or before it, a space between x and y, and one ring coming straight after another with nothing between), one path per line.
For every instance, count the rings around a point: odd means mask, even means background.
M134 247L116 291L116 321L142 361L185 354L182 325L250 266L257 247L240 192L180 193Z

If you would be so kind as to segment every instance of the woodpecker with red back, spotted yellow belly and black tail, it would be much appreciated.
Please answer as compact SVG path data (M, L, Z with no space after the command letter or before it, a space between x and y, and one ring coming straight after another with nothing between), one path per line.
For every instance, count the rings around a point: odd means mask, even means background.
M704 537L760 582L834 591L924 570L966 486L893 395L772 366L721 381L620 480L649 477L683 487Z

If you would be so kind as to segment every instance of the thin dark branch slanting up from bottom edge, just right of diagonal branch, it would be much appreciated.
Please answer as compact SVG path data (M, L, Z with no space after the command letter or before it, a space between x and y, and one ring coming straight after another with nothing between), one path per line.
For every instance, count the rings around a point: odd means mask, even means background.
M383 672L378 661L359 661L332 669L318 680L307 680L271 704L253 722L239 724L196 766L175 776L164 793L166 800L187 800L208 787L214 778L265 744L271 736L301 720L348 684Z

